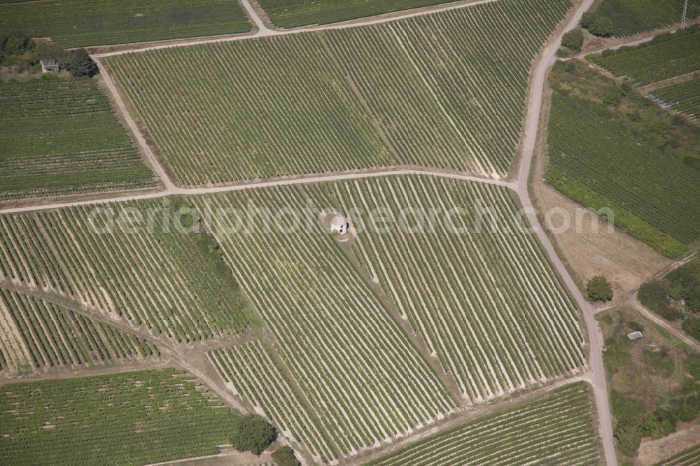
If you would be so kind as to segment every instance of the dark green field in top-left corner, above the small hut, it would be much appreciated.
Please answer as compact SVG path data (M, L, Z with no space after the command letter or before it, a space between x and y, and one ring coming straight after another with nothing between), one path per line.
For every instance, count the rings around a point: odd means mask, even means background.
M237 0L48 0L2 2L0 29L50 37L62 47L248 32Z

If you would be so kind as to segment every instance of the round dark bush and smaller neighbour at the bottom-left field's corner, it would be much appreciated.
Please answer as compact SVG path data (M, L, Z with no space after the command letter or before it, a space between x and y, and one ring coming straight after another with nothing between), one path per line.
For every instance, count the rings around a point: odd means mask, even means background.
M231 445L238 451L250 451L260 456L277 438L277 430L262 416L248 414L237 417L231 436ZM290 446L282 446L272 453L277 466L301 466Z

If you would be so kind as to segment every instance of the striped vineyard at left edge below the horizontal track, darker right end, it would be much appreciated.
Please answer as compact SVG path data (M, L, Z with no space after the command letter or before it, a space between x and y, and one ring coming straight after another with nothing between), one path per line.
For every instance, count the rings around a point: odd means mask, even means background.
M173 212L168 199L120 208L156 219ZM92 209L0 216L0 278L113 313L176 342L226 335L246 325L237 284L221 258L200 247L202 234L167 230L162 220L155 220L151 232L146 227L131 232L138 223L126 217L101 234L113 208Z

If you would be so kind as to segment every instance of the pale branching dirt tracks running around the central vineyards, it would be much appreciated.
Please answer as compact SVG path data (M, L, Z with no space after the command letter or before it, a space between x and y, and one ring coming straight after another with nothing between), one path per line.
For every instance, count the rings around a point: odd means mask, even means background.
M20 213L20 212L27 212L27 211L38 211L38 210L43 210L43 209L57 209L57 208L69 207L69 206L102 204L105 202L127 202L127 201L138 200L138 199L153 199L153 198L157 198L157 197L166 197L169 195L204 195L204 194L216 193L216 192L230 192L230 191L246 190L246 189L254 189L254 188L267 188L267 187L280 186L280 185L302 185L302 184L307 184L307 183L322 183L325 181L342 181L342 180L349 180L349 179L355 179L355 178L371 178L371 177L378 177L378 176L400 176L400 175L408 175L408 174L424 174L424 175L430 175L430 176L441 176L441 177L446 177L446 178L454 178L454 179L459 179L459 180L463 180L463 181L489 183L492 185L504 186L505 188L509 188L511 190L514 190L515 192L517 192L517 195L519 196L521 204L523 205L523 207L526 211L526 216L528 218L528 221L531 223L533 230L538 237L538 240L542 244L542 248L545 249L545 252L549 256L549 259L552 261L552 264L554 265L554 268L556 269L556 271L559 272L559 275L563 278L563 282L565 283L566 288L568 288L570 294L573 296L573 298L577 302L578 306L582 310L584 322L585 322L586 329L587 329L588 339L589 339L589 347L590 347L590 353L591 353L590 354L590 364L591 364L591 370L592 370L592 383L594 386L596 409L598 412L599 434L601 436L601 440L603 443L605 462L608 464L608 466L617 466L617 458L615 456L615 446L614 446L613 438L612 438L612 421L611 421L611 417L610 417L610 404L608 402L608 390L607 390L606 381L605 381L605 369L603 367L602 342L601 342L600 334L598 332L598 325L597 325L596 320L594 318L594 309L593 309L593 306L591 306L591 304L589 304L586 301L586 299L584 299L582 292L579 290L579 288L577 287L577 285L573 281L573 278L568 273L568 270L564 266L563 262L561 261L559 256L556 255L556 251L554 250L554 246L552 245L552 242L549 240L549 237L545 233L545 230L542 229L542 226L540 225L540 221L539 221L537 215L535 214L535 209L533 208L533 204L531 202L529 192L528 192L528 177L530 174L530 169L531 169L531 164L532 164L532 159L533 159L533 153L534 153L534 148L535 148L535 139L536 139L536 135L538 132L540 111L542 108L542 97L543 97L543 94L545 91L547 73L549 71L549 68L556 61L556 50L558 50L559 46L561 45L561 36L563 36L564 32L569 31L570 29L573 29L576 26L576 24L580 20L582 13L584 13L585 10L590 8L591 4L594 3L594 0L583 0L582 3L580 3L579 6L577 6L573 15L571 15L569 17L569 20L568 20L568 23L566 24L566 26L563 27L563 29L561 29L559 36L556 37L556 40L552 41L552 43L549 43L549 45L547 45L542 50L541 57L535 65L533 77L532 77L532 82L531 82L531 85L529 87L529 94L528 94L528 104L527 104L526 120L525 120L526 122L525 122L525 128L524 128L523 152L522 152L521 159L520 159L520 164L519 164L519 169L518 169L516 181L512 181L512 182L496 181L496 180L492 180L492 179L479 178L479 177L468 176L468 175L464 175L464 174L449 173L446 171L430 171L427 169L426 170L396 169L396 170L391 170L391 171L386 171L386 170L384 170L384 171L367 171L367 172L363 172L363 173L351 173L351 174L328 174L328 175L322 175L322 176L300 177L300 178L272 180L272 181L260 181L260 182L255 182L255 183L218 186L218 187L211 187L211 188L181 188L181 187L175 185L175 183L173 183L173 181L170 179L169 174L167 173L165 168L162 166L162 164L160 164L160 162L158 161L158 158L155 156L155 154L153 153L151 148L148 147L148 144L146 143L144 136L139 131L139 128L136 125L136 123L134 122L133 118L127 112L125 105L123 103L123 100L121 99L120 94L116 88L116 85L113 83L113 80L109 76L109 73L106 73L106 71L102 67L102 63L100 63L100 59L102 57L109 57L111 55L120 55L120 54L127 53L127 52L142 52L145 50L155 50L155 49L159 49L159 48L169 48L169 47L181 47L181 46L195 45L195 44L201 44L201 43L237 41L237 40L243 40L246 38L261 37L261 36L277 36L277 35L284 35L284 34L298 34L298 33L305 32L305 31L321 31L324 29L341 29L341 28L345 28L345 27L366 26L366 25L370 25L370 24L379 24L382 22L399 20L399 19L402 19L405 17L414 17L414 16L418 16L418 15L426 15L426 14L430 14L430 13L435 13L438 11L451 10L454 8L463 8L465 6L475 5L478 3L487 3L489 1L496 1L496 0L477 0L477 1L463 2L463 3L459 3L459 4L452 4L450 6L445 6L442 8L433 8L430 10L421 10L419 12L407 13L405 15L395 15L395 16L391 16L391 17L379 17L377 19L367 20L364 22L359 21L359 22L351 22L349 24L345 24L345 23L343 23L343 24L329 24L329 25L321 26L321 27L309 27L309 28L301 28L301 29L291 29L291 30L286 30L286 31L278 31L278 30L273 30L273 29L267 28L265 26L265 24L262 22L262 20L260 20L260 17L258 17L257 13L255 13L254 8L251 6L251 4L248 2L248 0L241 0L241 3L246 8L248 15L251 16L253 23L258 27L258 31L255 34L250 34L247 36L235 36L235 37L229 37L229 38L216 38L216 39L204 38L202 40L193 40L193 41L163 44L163 45L153 45L151 47L141 48L138 50L109 52L109 53L104 53L104 54L93 55L93 57L98 62L99 66L102 68L105 84L108 87L109 92L111 92L111 94L113 95L113 98L117 102L118 111L123 115L123 118L125 119L125 121L127 123L127 126L133 132L134 137L137 139L137 143L139 144L139 147L141 147L141 149L144 151L146 159L152 165L155 174L162 181L162 185L163 185L164 189L160 190L158 192L150 192L150 193L146 193L146 194L135 194L135 195L128 195L128 194L124 195L123 194L121 196L113 195L113 197L105 197L102 199L84 199L84 200L77 200L77 201L71 201L71 202L60 202L60 203L55 203L55 204L45 204L45 205L37 205L37 206L24 206L24 207L0 209L0 213ZM161 343L161 346L162 346L162 343ZM192 371L193 374L195 374L196 376L202 376L202 377L204 376L204 374L201 374L200 371L198 371L192 365L188 364L186 361L182 361L182 363L183 363L183 365L186 366L187 369ZM228 396L228 393L225 393L225 390L222 390L221 388L219 388L218 384L214 383L214 381L211 381L211 379L206 378L205 383L207 383L208 386L211 386L212 388L214 388L214 390L218 393L218 395L221 395L224 400L227 400L228 402L235 402L235 400L232 400L231 397Z

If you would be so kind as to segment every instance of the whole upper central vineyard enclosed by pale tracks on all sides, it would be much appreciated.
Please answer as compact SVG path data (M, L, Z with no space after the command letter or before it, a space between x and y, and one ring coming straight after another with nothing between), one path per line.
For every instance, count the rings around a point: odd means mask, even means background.
M396 164L499 178L533 58L568 8L503 0L106 65L184 185Z

